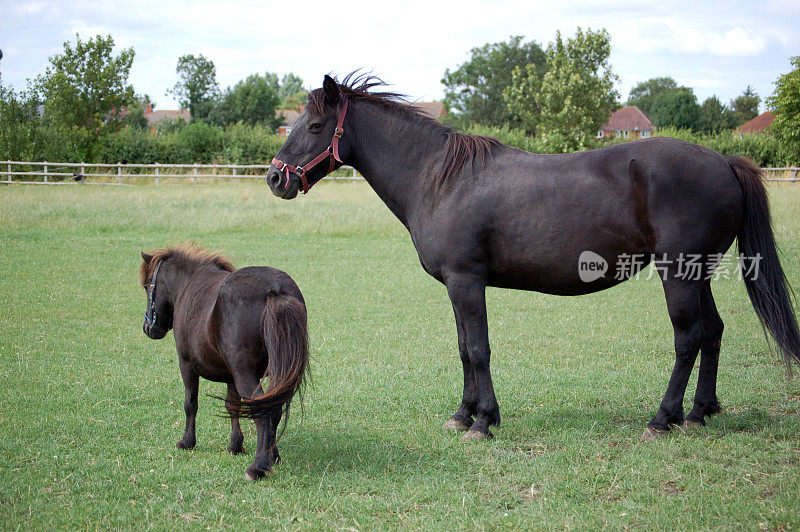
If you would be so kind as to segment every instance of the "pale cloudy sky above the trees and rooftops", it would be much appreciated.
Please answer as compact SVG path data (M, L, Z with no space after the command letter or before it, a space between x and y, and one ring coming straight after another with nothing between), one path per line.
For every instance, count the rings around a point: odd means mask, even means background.
M800 55L800 0L0 0L3 82L23 89L75 34L111 34L133 47L130 82L161 109L184 54L203 54L222 88L249 74L294 72L315 88L328 72L373 71L412 100L441 99L442 74L472 47L523 35L606 28L622 100L636 83L671 76L700 102L723 103L747 85L766 98ZM762 104L763 109L763 104Z

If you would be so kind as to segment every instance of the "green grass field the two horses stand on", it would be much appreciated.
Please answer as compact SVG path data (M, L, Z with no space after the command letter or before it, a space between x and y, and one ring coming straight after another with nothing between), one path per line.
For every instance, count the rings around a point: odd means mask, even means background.
M800 288L800 189L771 196ZM306 296L312 381L259 483L204 395L197 448L175 448L172 335L141 331L139 252L189 239L281 268ZM800 382L735 279L713 287L725 413L650 443L674 359L657 280L574 298L490 289L503 425L464 444L440 429L461 392L445 289L363 183L293 202L261 184L2 187L0 248L2 529L800 527Z

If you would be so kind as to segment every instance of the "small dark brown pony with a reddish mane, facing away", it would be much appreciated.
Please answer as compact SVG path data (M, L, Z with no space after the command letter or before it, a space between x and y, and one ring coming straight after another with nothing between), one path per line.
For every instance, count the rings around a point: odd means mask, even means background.
M186 388L186 432L195 446L199 379L228 384L228 451L244 452L239 417L255 419L256 455L247 479L280 460L277 427L303 382L308 333L303 295L286 273L269 267L235 269L217 254L181 245L142 253L139 279L147 291L144 333L155 340L174 329ZM262 377L269 376L266 392ZM241 398L245 398L242 400Z

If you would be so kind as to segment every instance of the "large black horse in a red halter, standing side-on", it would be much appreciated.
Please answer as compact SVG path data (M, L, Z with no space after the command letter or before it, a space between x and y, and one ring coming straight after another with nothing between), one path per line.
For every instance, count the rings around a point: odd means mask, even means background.
M720 411L723 323L710 277L736 238L761 323L787 365L800 361L767 194L758 169L744 159L667 138L531 154L454 131L397 94L369 92L380 84L369 76L351 74L342 83L326 76L266 179L275 195L291 199L349 164L406 226L422 267L447 287L455 313L464 393L446 428L482 439L500 423L486 286L586 294L651 260L663 279L676 361L644 437L685 421L683 397L698 352L700 376L686 421L704 425Z

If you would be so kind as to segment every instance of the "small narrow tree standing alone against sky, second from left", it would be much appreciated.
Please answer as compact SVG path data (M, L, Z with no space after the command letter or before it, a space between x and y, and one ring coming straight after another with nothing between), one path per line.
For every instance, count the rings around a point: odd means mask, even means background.
M208 117L219 98L214 62L202 55L183 55L178 59L175 71L180 80L167 94L177 98L181 108L189 109L192 120Z

